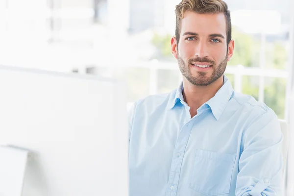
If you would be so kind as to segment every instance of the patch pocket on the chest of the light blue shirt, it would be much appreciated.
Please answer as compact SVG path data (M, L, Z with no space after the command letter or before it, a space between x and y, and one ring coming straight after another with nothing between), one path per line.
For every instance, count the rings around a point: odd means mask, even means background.
M207 196L228 194L235 159L233 154L196 150L190 188Z

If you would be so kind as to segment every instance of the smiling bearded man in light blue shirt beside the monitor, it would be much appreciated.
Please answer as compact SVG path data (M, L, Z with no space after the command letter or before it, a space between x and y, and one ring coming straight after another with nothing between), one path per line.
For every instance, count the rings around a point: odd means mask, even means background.
M281 196L277 116L224 76L234 51L227 4L182 0L175 13L183 82L130 110L130 196Z

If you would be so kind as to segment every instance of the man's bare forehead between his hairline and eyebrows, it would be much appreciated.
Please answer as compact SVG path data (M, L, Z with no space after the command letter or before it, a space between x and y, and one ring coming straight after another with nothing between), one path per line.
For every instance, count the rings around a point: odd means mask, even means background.
M201 35L220 33L226 37L226 19L223 13L198 14L187 11L181 21L181 35L184 32L195 32Z

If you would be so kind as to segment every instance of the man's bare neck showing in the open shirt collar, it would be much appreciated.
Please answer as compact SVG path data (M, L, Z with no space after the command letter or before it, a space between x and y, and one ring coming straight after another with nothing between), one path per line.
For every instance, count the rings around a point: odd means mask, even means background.
M196 86L183 77L183 97L190 106L191 118L197 114L197 109L213 98L223 85L223 75L207 86Z

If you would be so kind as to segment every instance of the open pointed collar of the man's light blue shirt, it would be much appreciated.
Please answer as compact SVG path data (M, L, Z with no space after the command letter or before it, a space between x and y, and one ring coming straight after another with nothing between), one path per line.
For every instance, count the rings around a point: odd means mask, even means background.
M172 109L177 102L184 101L182 92L183 92L183 82L181 82L176 92L172 94L172 96L170 97L170 100L168 103L168 109ZM228 80L228 78L224 75L224 84L221 86L220 90L216 93L216 95L213 98L206 101L202 106L208 105L211 108L211 111L214 117L217 120L219 120L232 94L233 94L233 87L230 81ZM199 109L201 109L202 106Z

